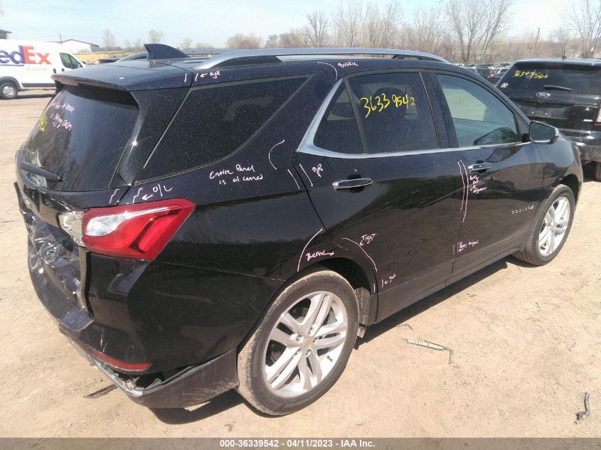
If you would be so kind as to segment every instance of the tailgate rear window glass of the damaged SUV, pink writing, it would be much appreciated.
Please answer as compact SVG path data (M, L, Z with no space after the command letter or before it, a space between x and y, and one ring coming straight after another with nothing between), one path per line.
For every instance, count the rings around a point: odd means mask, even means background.
M127 92L68 86L42 113L22 159L60 176L27 176L57 191L97 191L110 186L132 136L138 108Z

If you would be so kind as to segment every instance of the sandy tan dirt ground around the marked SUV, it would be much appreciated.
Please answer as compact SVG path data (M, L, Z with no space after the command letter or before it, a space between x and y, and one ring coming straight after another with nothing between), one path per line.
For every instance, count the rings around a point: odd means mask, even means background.
M36 298L12 186L15 151L48 99L0 101L0 436L601 436L601 183L590 175L551 264L503 259L369 328L336 385L296 414L262 416L235 392L171 410L119 390L83 398L110 383ZM405 339L454 349L452 364ZM591 415L575 424L584 391Z

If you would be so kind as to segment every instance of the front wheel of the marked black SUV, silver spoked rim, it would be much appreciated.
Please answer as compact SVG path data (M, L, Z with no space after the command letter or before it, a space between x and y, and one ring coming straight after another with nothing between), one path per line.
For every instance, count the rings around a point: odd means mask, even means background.
M567 205L567 206L566 206ZM569 208L569 210L565 210ZM550 262L560 252L568 239L574 218L574 193L568 186L560 184L541 208L533 230L528 236L526 247L514 253L514 257L542 266ZM555 215L560 213L560 218Z

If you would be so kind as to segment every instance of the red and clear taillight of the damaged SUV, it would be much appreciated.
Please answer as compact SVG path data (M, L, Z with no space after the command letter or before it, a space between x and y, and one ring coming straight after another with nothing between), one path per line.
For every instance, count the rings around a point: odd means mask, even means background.
M154 259L194 209L183 198L68 211L60 226L90 252L122 258Z

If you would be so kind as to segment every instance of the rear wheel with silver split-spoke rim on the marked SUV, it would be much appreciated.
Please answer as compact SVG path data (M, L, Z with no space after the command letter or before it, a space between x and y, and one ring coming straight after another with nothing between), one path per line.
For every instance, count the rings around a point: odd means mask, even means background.
M357 327L357 299L346 279L329 270L302 277L277 296L240 350L238 392L267 414L307 407L340 377Z

